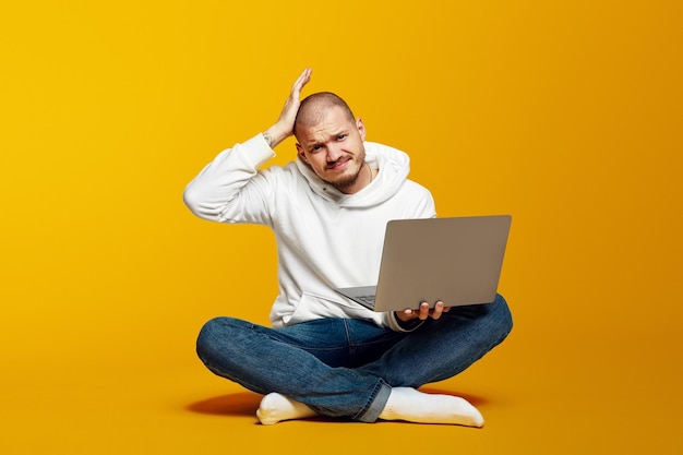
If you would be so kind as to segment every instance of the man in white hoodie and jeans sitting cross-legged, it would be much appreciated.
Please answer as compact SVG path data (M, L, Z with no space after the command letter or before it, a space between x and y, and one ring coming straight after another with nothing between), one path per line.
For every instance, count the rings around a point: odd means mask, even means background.
M481 427L463 398L419 392L462 372L512 328L501 296L489 304L376 313L338 287L378 276L386 223L434 217L431 194L407 179L406 154L366 142L366 127L334 94L302 101L304 70L278 120L220 153L188 185L197 216L263 224L277 240L279 296L273 328L232 318L207 322L197 354L214 373L265 395L261 423L316 415ZM290 135L297 160L257 168Z

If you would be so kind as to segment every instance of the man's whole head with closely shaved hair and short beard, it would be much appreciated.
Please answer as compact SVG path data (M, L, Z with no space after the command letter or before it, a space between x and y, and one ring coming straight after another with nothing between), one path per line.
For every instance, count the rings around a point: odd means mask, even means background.
M299 158L322 180L355 193L371 180L361 178L366 161L366 128L337 95L316 93L301 101L293 128Z

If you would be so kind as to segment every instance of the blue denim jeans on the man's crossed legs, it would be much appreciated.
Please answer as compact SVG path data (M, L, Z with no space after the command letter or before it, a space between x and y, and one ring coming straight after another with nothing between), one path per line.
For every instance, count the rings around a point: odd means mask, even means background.
M232 318L208 321L197 354L215 374L250 391L277 392L315 412L373 422L392 387L452 378L512 330L503 297L454 307L409 333L360 320L323 319L269 328Z

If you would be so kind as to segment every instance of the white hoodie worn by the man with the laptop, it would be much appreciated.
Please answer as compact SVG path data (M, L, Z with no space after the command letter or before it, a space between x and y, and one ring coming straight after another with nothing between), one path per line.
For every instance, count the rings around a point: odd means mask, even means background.
M407 179L405 153L364 146L366 161L380 171L355 194L325 183L300 160L259 171L275 156L262 134L221 152L185 188L185 204L201 218L273 229L279 278L273 326L352 318L402 330L391 313L370 311L334 290L376 285L388 220L435 216L429 191Z

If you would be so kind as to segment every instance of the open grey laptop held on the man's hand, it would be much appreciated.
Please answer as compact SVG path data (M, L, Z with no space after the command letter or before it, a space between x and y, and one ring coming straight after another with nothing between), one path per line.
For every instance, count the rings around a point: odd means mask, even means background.
M391 220L376 286L336 291L378 312L490 303L511 224L510 215Z

